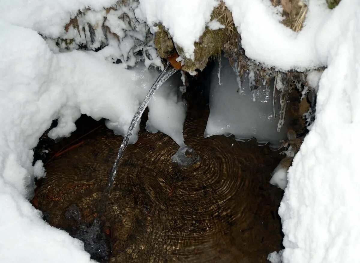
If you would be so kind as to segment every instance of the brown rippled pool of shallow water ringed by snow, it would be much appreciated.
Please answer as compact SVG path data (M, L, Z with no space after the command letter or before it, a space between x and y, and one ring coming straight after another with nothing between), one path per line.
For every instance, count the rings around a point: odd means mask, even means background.
M93 258L100 261L267 262L282 249L283 192L269 180L283 156L255 140L204 138L206 119L185 122L185 143L201 158L190 167L172 163L177 144L142 124L99 214L122 142L101 126L46 164L35 203L50 225L72 236L96 232L98 244L85 242L85 248L98 250Z

